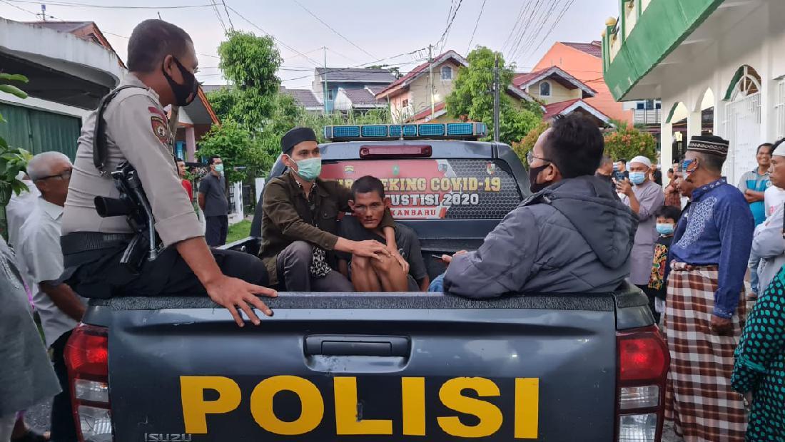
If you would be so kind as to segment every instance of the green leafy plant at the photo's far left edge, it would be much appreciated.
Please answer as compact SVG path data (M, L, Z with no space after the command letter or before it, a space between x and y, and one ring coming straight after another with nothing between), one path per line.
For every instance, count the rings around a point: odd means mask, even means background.
M3 74L0 72L0 81L27 83L27 77L19 74ZM0 84L0 92L6 92L19 98L27 98L27 93L14 85ZM0 123L6 123L0 115ZM11 193L20 194L27 192L27 186L16 178L19 172L27 169L27 161L31 155L27 150L9 146L0 136L0 234L8 239L8 221L5 216L5 206L11 199Z

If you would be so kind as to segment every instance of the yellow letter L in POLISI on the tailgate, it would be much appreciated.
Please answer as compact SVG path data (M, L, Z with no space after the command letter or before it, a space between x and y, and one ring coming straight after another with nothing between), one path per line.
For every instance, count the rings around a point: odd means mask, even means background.
M357 378L333 379L335 392L335 428L339 435L392 434L392 421L363 419L357 413Z

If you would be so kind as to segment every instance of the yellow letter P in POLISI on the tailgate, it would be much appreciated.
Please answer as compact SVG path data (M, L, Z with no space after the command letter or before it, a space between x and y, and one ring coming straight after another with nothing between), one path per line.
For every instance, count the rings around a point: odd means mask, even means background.
M204 400L204 390L218 393L216 400ZM228 413L240 404L237 382L223 376L180 376L185 433L206 434L207 415Z

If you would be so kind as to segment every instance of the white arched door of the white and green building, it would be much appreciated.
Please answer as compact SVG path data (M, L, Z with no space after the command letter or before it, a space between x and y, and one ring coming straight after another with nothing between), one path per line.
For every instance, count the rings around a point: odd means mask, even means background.
M755 150L761 143L761 93L739 96L725 104L725 137L730 141L725 175L734 186L744 172L754 169Z

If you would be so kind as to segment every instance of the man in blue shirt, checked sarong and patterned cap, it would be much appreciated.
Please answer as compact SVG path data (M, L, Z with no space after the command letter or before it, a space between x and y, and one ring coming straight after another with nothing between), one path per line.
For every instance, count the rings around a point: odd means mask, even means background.
M747 413L732 390L733 350L754 220L744 195L721 176L728 141L694 136L682 165L695 186L670 248L666 417L685 440L744 440Z

